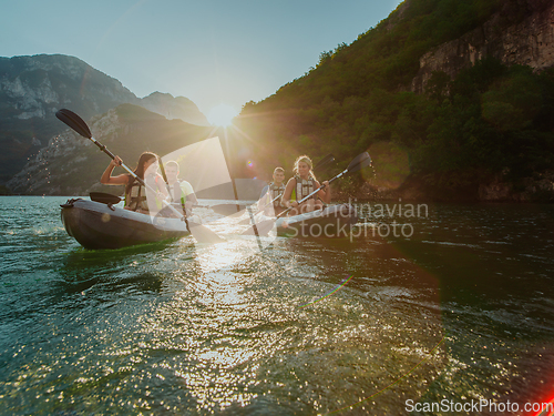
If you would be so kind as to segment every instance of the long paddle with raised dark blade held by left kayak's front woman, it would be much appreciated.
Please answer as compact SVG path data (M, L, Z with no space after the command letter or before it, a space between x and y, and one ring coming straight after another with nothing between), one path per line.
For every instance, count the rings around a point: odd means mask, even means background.
M92 133L91 133L91 130L89 129L89 125L86 125L86 123L84 122L84 120L81 119L79 115L76 115L73 111L68 110L68 109L61 109L61 110L58 110L55 112L55 116L60 121L62 121L63 123L65 123L68 126L70 126L71 129L73 129L75 132L78 132L80 135L82 135L83 138L86 138L86 139L91 140L96 146L99 146L99 149L102 152L104 152L105 154L107 154L111 159L115 159L115 155L112 152L110 152L110 150L107 150L107 148L105 145L103 145L102 143L98 142L92 136ZM154 194L156 193L155 190L153 190L141 177L138 177L126 164L124 164L122 162L121 166L125 171L127 171L141 185L143 185L144 187L148 189ZM184 219L183 214L179 213L174 206L172 206L166 201L162 201L162 202L166 206L168 206L170 210L172 210L177 215L177 217ZM193 233L193 231L191 230L189 225L193 225L193 229L197 229L197 230L195 230L196 233ZM193 222L187 222L187 227L188 227L188 231L194 235L194 237L198 242L201 242L201 243L217 243L217 242L223 241L216 233L214 233L213 231L206 229L205 226L203 226L201 224L193 223Z

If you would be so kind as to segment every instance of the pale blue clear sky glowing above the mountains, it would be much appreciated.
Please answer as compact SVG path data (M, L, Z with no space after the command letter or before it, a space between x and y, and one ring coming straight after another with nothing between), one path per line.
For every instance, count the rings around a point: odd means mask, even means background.
M0 57L62 53L137 97L237 113L386 19L400 0L0 0ZM208 115L209 118L209 115Z

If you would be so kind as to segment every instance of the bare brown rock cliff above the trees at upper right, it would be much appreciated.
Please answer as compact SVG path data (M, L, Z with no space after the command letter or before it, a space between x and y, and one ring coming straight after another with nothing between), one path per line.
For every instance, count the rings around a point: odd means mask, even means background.
M470 68L484 57L535 70L553 67L554 2L526 0L523 3L517 6L517 13L513 13L514 6L506 2L504 9L482 27L422 55L412 91L424 91L435 71L453 79L462 69ZM514 22L514 14L524 14L524 18Z

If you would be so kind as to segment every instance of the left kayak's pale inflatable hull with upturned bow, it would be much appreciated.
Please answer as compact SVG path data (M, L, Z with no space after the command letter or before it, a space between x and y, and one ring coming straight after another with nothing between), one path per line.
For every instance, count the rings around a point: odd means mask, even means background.
M72 199L60 206L68 234L90 250L122 248L189 234L181 219L151 217L111 203Z

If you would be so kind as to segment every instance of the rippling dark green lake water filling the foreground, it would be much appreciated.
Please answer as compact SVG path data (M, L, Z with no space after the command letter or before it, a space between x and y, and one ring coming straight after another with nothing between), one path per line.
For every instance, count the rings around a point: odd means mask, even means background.
M552 205L429 205L366 220L410 237L359 227L261 253L228 224L209 247L94 252L63 230L64 201L0 197L2 414L402 415L554 395Z

